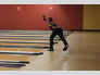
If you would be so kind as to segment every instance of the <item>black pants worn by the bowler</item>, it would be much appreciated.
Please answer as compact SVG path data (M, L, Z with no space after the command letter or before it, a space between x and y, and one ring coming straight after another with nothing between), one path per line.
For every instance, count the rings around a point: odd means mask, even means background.
M50 36L50 49L53 48L53 38L54 38L57 35L59 35L59 37L60 37L60 39L63 41L64 46L67 45L67 41L66 41L66 40L64 39L64 37L63 37L63 30L62 30L61 28L55 28L55 29L52 32L51 36Z

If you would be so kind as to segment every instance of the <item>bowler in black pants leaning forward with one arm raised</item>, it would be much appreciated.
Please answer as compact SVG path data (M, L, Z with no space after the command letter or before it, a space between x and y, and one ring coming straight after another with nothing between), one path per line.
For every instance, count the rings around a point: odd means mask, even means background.
M48 51L54 51L53 49L53 38L59 35L60 39L63 41L64 43L64 48L63 51L67 50L68 43L67 41L64 39L63 37L63 30L62 28L60 28L54 22L52 17L48 17L48 22L46 20L46 16L42 15L43 21L46 22L46 24L49 26L49 28L52 30L52 34L50 36L50 49Z

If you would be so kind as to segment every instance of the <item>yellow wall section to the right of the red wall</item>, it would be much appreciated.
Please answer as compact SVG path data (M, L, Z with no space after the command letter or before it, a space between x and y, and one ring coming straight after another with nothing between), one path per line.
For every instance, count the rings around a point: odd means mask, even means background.
M100 30L100 4L85 4L83 29Z

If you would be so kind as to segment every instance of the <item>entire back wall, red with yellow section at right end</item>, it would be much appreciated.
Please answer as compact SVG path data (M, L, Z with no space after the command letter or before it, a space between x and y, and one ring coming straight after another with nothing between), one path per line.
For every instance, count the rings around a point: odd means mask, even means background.
M0 4L0 30L50 30L42 15L64 30L100 29L99 4Z

